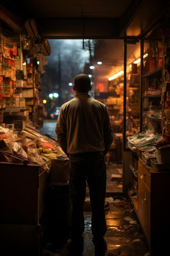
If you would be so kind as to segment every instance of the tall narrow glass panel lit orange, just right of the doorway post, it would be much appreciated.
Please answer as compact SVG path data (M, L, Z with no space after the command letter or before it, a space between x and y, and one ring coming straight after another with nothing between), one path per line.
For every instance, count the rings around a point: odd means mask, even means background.
M140 41L125 42L126 49L126 91L124 92L124 113L126 112L124 126L124 150L129 148L128 137L139 132L140 128Z

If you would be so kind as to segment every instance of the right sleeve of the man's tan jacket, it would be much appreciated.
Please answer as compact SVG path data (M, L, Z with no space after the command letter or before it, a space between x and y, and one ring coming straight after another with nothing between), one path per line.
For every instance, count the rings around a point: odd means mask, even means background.
M111 123L110 123L110 117L108 114L107 108L105 108L105 120L104 120L104 155L108 153L108 150L111 147L111 144L113 143L113 130L111 129Z

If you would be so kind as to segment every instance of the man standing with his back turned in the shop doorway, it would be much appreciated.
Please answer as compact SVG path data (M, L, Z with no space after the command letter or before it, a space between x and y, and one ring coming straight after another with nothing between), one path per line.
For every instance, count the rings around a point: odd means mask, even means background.
M81 256L84 239L84 200L86 184L90 193L91 231L95 256L104 256L107 250L105 196L106 164L104 157L113 135L106 106L88 94L91 80L86 74L75 76L75 97L61 106L55 133L57 141L70 159L70 194L72 202L70 255Z

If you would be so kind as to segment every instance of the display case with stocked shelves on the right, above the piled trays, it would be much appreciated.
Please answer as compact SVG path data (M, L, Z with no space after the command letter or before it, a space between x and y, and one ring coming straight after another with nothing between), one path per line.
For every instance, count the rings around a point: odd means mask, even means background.
M162 29L142 41L141 131L161 133L163 47Z

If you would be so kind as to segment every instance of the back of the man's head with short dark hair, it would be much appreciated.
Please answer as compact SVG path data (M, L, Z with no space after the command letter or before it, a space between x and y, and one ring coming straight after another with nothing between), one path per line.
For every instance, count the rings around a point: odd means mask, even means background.
M74 86L78 92L89 91L89 86L91 85L91 79L86 74L78 74L74 79Z

